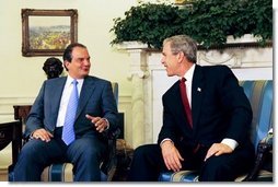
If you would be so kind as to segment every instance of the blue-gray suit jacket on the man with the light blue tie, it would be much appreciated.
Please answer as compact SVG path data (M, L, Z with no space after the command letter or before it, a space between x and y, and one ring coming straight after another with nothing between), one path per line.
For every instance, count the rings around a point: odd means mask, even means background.
M62 77L44 82L27 117L26 137L38 128L54 132L66 80L67 77ZM100 136L91 120L85 118L86 114L106 118L109 130L117 128L117 106L111 82L95 77L84 78L74 122L77 138L88 132Z

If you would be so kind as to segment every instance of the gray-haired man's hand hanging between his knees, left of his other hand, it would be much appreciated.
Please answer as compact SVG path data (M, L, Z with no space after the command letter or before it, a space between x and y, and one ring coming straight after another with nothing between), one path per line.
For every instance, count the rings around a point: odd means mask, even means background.
M181 156L178 150L172 143L171 140L166 140L161 144L162 156L167 170L178 172L182 168L181 161L184 159Z

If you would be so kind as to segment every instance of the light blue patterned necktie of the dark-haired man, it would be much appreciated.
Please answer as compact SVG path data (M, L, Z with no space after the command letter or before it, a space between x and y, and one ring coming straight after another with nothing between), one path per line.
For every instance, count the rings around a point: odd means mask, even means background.
M78 108L78 81L73 80L72 82L72 91L70 94L68 107L67 107L67 113L66 113L66 118L65 118L65 124L62 128L62 135L61 139L63 142L68 145L70 144L74 139L74 120L76 120L76 114L77 114L77 108Z

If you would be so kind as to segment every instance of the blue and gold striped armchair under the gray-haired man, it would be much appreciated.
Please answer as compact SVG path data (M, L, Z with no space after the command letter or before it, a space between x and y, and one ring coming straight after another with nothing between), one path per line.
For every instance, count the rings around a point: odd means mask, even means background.
M239 176L235 180L273 182L273 80L241 81L240 84L253 109L251 139L256 148L256 161L248 174ZM164 172L160 174L159 180L198 182L198 172Z

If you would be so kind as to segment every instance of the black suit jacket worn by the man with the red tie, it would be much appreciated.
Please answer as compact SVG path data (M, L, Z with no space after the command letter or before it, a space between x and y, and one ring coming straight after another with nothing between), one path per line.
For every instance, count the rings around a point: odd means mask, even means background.
M238 79L225 66L196 66L192 85L193 129L187 124L178 81L162 97L163 126L158 143L170 138L175 144L209 148L223 138L239 145L250 143L252 108ZM185 148L185 147L182 147Z

